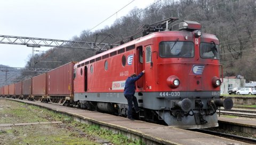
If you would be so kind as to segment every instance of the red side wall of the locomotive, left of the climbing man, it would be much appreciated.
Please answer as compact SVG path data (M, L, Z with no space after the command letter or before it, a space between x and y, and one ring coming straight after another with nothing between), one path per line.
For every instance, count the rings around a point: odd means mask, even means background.
M124 81L129 75L135 72L134 70L134 58L132 59L135 49L127 51L125 53L119 53L117 50L123 49L127 46L134 45L134 42L126 43L118 48L111 49L106 52L102 52L94 57L86 59L77 63L74 66L76 77L74 79L74 93L79 92L123 92L121 87L123 84L119 84L120 87L116 87L115 82ZM106 59L90 63L89 65L82 66L85 62L90 62L96 58L104 55L111 55ZM125 66L122 65L122 57L126 57ZM131 65L127 63L127 57L130 56ZM105 62L108 63L107 70L105 69ZM82 66L82 67L77 67ZM87 71L86 71L87 70ZM87 82L86 82L87 81ZM86 87L87 84L87 87ZM123 86L124 87L124 86Z

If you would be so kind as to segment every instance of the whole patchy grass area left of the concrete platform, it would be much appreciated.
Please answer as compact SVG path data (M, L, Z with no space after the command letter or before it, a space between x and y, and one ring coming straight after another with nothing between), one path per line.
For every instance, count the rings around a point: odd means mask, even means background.
M47 130L46 134L44 132L41 132L44 130L44 128L24 128L22 127L29 127L29 126L22 126L20 130L17 129L16 126L14 130L7 131L8 134L11 134L11 136L18 136L18 140L11 140L10 144L20 144L20 142L28 143L28 144L98 144L93 142L86 142L88 136L89 139L95 140L97 136L100 139L106 139L114 144L129 144L129 145L144 145L145 143L142 142L142 140L132 140L124 136L123 134L115 134L111 131L104 130L100 128L99 125L88 125L88 124L82 124L79 122L76 122L68 115L63 115L61 113L48 110L45 108L37 107L34 105L21 103L21 102L14 102L7 100L8 103L12 103L11 107L8 108L8 110L0 110L0 114L4 112L4 114L8 114L10 116L17 116L12 120L12 122L17 121L18 123L22 122L44 122L44 121L61 121L65 123L67 126L65 129L57 128L51 129L50 131ZM20 122L22 120L22 122ZM0 120L0 123L2 122L2 119ZM36 126L36 125L35 125ZM38 126L44 126L44 125L38 125ZM29 133L25 131L36 131L36 133ZM63 131L64 130L64 131ZM56 134L57 132L57 134ZM79 135L79 132L83 132L86 135L81 136ZM24 135L27 134L27 135ZM13 137L14 138L14 137ZM84 139L84 140L83 140Z

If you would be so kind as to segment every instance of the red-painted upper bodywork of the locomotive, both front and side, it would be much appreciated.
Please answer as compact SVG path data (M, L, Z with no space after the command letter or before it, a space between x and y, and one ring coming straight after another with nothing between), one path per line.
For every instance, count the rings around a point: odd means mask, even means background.
M187 39L185 39L187 36ZM194 45L194 57L191 58L162 58L159 56L159 43L161 42L191 42ZM197 42L196 42L197 41ZM212 43L219 44L219 40L214 35L202 34L200 38L193 35L190 31L161 31L150 34L148 36L135 39L132 42L115 47L112 50L95 55L92 58L81 61L75 65L76 78L75 78L75 93L80 92L123 92L121 84L118 82L124 81L128 76L133 73L139 73L145 69L146 73L143 76L141 86L143 92L161 92L161 91L220 91L220 87L213 87L212 78L214 76L220 77L219 74L219 60L218 59L205 59L200 56L199 44ZM102 59L92 62L83 67L77 67L85 62L90 62L95 58L102 57L106 54L111 54L127 46L135 45L134 49L126 51L121 54L116 54L113 57ZM143 48L143 65L140 66L137 48ZM146 62L146 47L151 47L151 66L150 62ZM126 65L122 65L122 57L126 57ZM132 64L127 65L127 57L133 55ZM108 70L105 70L105 61L108 61ZM193 72L193 66L203 66L201 74ZM90 71L93 67L92 73ZM87 79L84 72L87 68ZM81 70L82 69L82 70ZM166 79L175 75L180 79L180 86L177 88L170 88ZM85 84L87 81L87 88ZM198 83L199 81L199 83ZM117 82L115 84L115 82ZM197 84L198 83L198 84ZM137 85L138 86L138 85ZM115 87L121 88L116 89ZM86 91L87 90L87 91Z

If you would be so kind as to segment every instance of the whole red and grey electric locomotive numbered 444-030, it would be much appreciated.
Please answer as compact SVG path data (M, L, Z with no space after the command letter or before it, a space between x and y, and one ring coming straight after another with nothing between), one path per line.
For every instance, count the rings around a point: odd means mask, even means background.
M168 23L175 20L144 26L146 36L76 63L74 101L126 116L125 80L145 70L136 82L139 118L179 128L218 126L217 108L233 107L231 99L219 98L219 40L201 33L201 25L193 21L169 30Z

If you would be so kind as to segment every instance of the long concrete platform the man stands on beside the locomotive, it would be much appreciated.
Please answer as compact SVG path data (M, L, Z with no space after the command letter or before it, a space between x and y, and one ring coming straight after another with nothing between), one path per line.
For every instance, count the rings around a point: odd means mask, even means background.
M50 103L33 102L27 100L9 99L14 101L35 104L54 111L62 112L73 116L79 122L87 124L98 124L115 133L123 133L133 139L142 139L146 144L248 144L230 139L220 138L204 133L181 130L170 126L158 125L142 122L140 120L130 120L124 117L103 114L100 112L81 110L57 106Z

